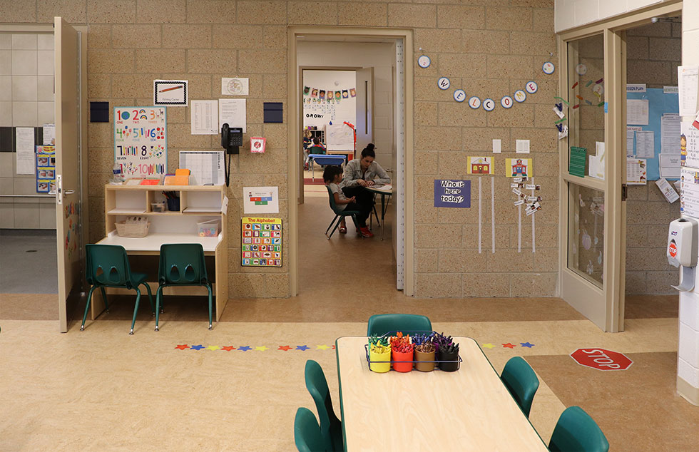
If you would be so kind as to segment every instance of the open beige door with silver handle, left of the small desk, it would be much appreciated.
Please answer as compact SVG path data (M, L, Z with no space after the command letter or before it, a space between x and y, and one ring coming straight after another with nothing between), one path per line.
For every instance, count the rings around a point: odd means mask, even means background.
M58 321L68 331L80 298L83 251L83 178L81 152L86 149L81 127L81 36L61 17L53 22L56 109L56 240L58 241ZM86 165L85 165L86 166Z

